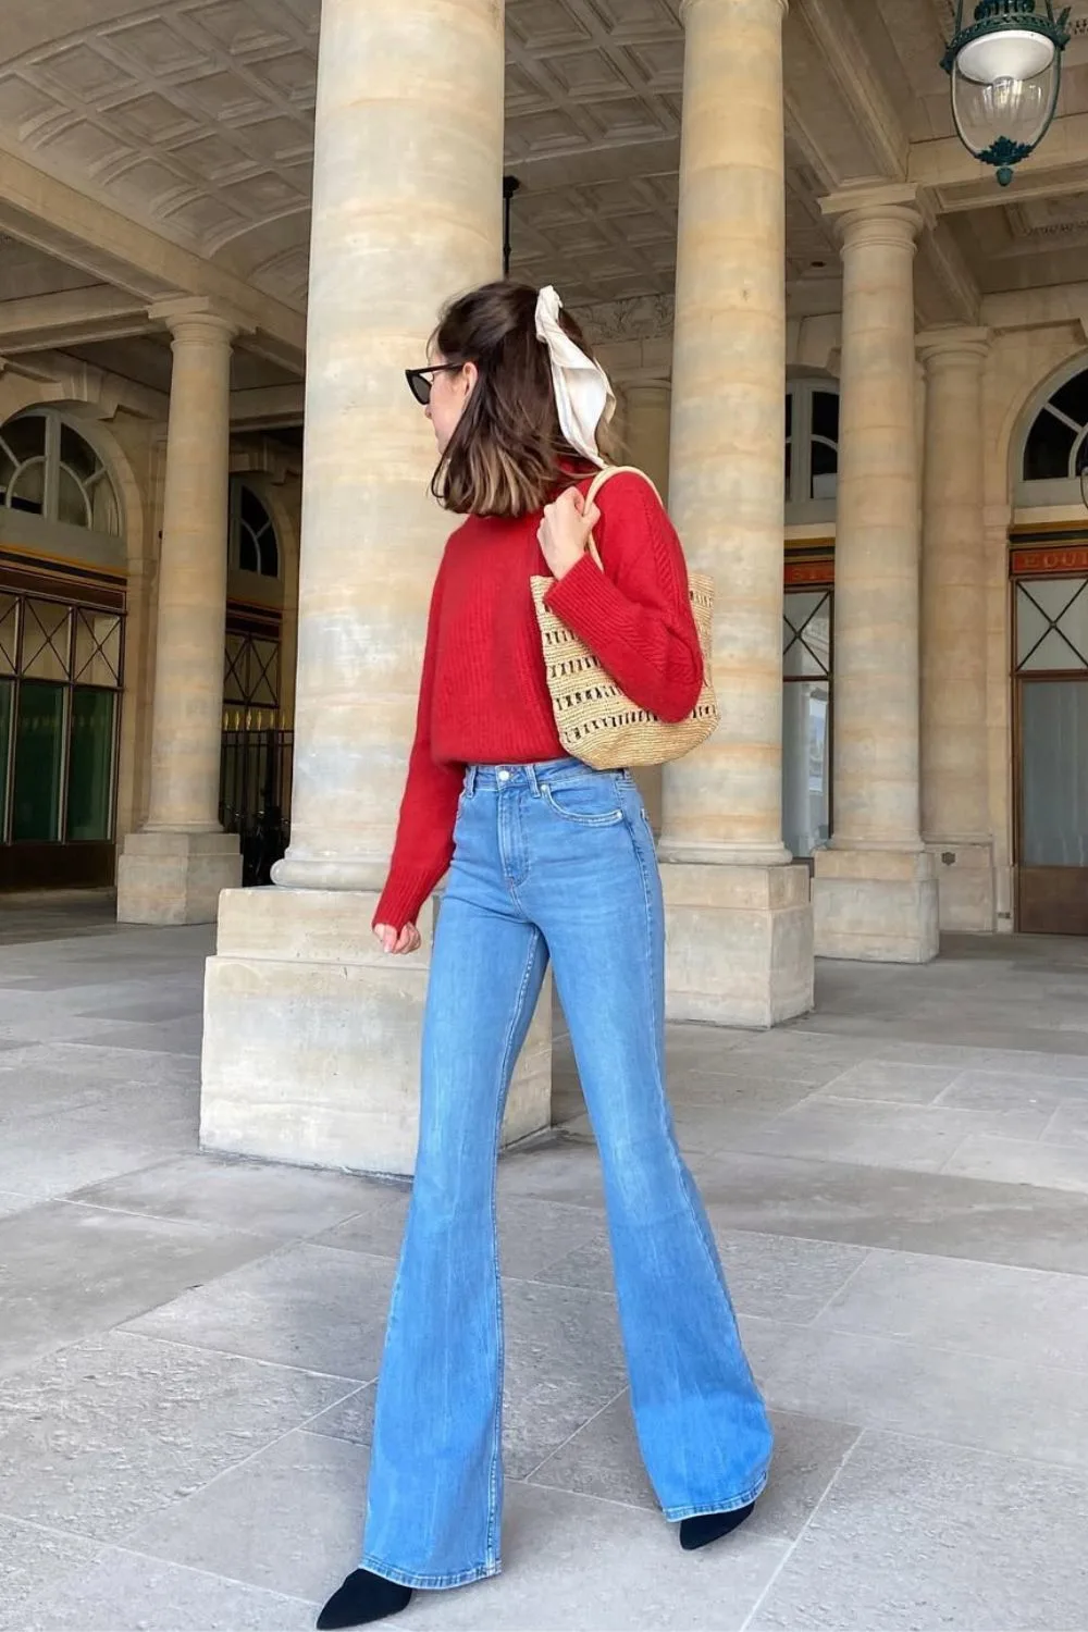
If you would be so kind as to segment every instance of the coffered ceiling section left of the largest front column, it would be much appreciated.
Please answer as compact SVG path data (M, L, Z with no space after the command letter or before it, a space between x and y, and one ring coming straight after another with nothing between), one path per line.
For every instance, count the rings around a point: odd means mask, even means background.
M290 304L307 286L318 0L51 0L0 140ZM83 20L65 29L64 21Z

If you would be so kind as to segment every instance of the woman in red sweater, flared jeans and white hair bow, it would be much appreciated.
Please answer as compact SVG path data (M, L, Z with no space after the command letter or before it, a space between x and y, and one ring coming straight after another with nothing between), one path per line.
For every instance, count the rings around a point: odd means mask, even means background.
M553 290L453 302L409 385L436 498L467 521L439 568L388 883L387 953L449 870L422 1038L419 1155L378 1384L362 1567L318 1627L499 1570L502 1108L548 958L600 1147L631 1405L687 1549L736 1529L772 1433L664 1085L664 916L626 772L563 757L530 576L641 707L683 720L703 664L680 542L635 473L587 506L608 382ZM586 553L594 530L604 571Z

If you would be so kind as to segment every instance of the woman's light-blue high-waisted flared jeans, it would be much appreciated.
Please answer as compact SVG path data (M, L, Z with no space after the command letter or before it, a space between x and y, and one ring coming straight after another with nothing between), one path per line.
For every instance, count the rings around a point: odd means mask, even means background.
M767 1480L767 1412L666 1098L664 912L638 788L573 759L470 767L431 966L362 1557L405 1586L499 1570L496 1159L548 956L600 1149L631 1407L664 1514L741 1508Z

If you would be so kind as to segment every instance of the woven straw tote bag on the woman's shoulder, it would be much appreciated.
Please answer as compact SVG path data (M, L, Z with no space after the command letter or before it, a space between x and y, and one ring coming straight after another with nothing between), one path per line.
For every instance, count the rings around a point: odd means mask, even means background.
M631 465L612 465L594 477L586 504L590 504L605 481L621 470L654 486L641 470ZM600 568L600 552L592 532L586 548ZM551 708L566 752L592 765L594 770L628 770L635 765L664 765L705 743L718 726L718 703L711 681L713 579L706 573L688 574L692 612L703 653L703 690L687 720L675 725L631 702L589 646L548 610L545 596L553 583L555 578L530 578Z

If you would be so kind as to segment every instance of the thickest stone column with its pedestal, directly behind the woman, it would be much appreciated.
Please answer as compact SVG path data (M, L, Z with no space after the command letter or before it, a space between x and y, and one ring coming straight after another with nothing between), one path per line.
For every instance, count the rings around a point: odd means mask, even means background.
M452 295L502 264L504 11L496 0L325 0L290 850L228 893L209 965L209 1147L411 1170L426 956L370 919L411 746L431 586L453 517L403 370ZM432 914L421 922L429 940ZM507 1138L550 1120L542 1004Z

